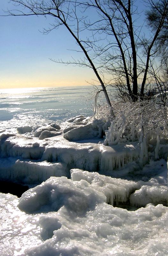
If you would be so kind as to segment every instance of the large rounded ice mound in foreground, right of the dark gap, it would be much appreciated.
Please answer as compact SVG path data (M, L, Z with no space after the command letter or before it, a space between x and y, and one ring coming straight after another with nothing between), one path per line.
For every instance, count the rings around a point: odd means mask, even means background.
M66 177L51 177L23 193L18 208L27 213L52 212L65 205L73 214L81 215L104 201L106 197L91 188L87 181L73 182Z

